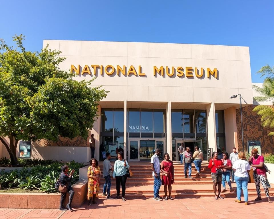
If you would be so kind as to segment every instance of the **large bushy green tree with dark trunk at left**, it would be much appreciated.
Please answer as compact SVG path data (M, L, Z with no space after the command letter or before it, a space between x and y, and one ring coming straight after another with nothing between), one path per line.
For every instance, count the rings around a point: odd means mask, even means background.
M60 51L48 45L40 53L25 51L23 39L15 35L16 48L0 39L0 140L13 166L20 139L87 138L97 119L98 101L107 93L92 86L94 79L79 82L75 74L60 70L65 60Z

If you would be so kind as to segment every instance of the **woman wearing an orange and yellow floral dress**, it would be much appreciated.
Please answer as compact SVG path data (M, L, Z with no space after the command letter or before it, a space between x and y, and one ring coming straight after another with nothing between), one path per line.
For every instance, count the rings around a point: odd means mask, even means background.
M95 198L98 198L100 187L100 175L102 175L98 161L93 158L90 160L91 166L88 167L88 205L97 204Z

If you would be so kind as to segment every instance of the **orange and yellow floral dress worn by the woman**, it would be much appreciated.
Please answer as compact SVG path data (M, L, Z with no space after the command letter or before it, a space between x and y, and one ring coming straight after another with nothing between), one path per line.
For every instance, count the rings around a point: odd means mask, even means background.
M93 194L96 194L96 198L98 198L99 187L100 187L100 174L101 174L101 170L99 166L98 166L98 169L92 166L88 167L88 176L91 176L91 177L99 176L98 180L94 180L88 177L88 196L87 196L88 200L90 198L93 198Z

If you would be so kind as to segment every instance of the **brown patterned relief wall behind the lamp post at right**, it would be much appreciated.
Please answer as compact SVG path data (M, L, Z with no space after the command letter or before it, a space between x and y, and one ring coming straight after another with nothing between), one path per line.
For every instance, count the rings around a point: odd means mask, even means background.
M263 155L274 154L274 137L269 137L271 130L268 127L261 126L261 117L257 113L253 113L255 106L245 106L243 113L243 143L245 151L247 151L247 141L261 141L261 151ZM239 151L242 150L242 132L241 132L241 113L240 109L236 109L237 134Z

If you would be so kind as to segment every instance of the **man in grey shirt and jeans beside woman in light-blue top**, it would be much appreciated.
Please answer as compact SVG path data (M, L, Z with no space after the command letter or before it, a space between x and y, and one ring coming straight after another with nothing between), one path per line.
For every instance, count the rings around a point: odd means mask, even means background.
M110 196L111 179L113 178L112 176L113 165L109 161L110 158L111 158L110 153L106 153L106 159L104 159L104 162L103 162L103 177L105 178L106 182L103 187L102 196L106 196L106 199L114 199Z

